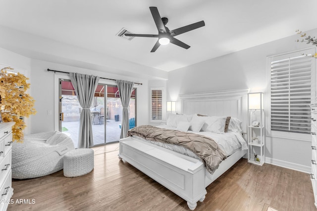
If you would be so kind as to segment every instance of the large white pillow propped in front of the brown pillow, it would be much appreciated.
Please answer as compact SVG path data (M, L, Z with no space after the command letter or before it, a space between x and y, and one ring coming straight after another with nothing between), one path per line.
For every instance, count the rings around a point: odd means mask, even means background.
M205 117L203 131L223 133L227 117Z

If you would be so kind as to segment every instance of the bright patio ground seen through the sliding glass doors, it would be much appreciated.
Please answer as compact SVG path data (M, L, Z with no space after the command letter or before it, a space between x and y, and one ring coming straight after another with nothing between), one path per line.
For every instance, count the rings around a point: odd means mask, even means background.
M114 120L106 120L106 130L104 124L93 124L94 145L96 146L100 144L105 144L105 131L106 143L119 141L121 133L119 124L121 124L121 122L115 122ZM62 131L73 140L75 148L77 148L78 146L78 128L78 121L62 122Z

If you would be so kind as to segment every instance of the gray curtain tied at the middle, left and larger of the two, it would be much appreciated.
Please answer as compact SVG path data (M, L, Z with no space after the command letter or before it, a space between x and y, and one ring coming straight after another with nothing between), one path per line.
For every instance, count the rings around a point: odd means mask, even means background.
M82 107L78 134L78 148L89 148L94 146L90 107L94 101L99 77L79 73L69 73L69 75L79 104Z

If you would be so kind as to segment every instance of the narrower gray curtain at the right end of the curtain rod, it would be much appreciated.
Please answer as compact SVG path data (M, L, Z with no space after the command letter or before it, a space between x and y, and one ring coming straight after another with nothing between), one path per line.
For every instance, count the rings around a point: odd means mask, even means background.
M116 84L118 86L118 91L123 107L120 138L125 138L127 137L129 130L129 103L134 83L123 80L116 80Z

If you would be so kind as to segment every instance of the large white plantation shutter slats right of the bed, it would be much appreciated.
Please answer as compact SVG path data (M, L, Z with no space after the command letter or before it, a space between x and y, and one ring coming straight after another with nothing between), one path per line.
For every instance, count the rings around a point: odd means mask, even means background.
M299 52L272 58L271 130L310 133L313 59Z

